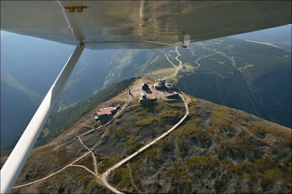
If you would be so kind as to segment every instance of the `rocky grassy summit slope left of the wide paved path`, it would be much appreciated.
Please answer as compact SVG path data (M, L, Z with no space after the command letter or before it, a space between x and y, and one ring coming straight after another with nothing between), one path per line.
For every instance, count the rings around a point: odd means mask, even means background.
M123 104L124 96L127 96L127 94L128 91L122 91L118 96L114 96L92 108L66 130L62 131L51 143L33 149L16 186L44 178L84 155L87 150L76 136L101 124L104 125L110 119L105 117L95 122L91 120L90 115L96 114L100 108ZM94 150L98 162L98 173L101 174L109 166L122 159L123 156L132 154L145 142L168 130L184 114L185 107L179 101L157 100L141 105L138 103L138 98L135 97L111 125L101 127L80 138L87 147ZM5 159L2 158L2 164ZM91 155L77 161L74 165L82 165L94 171ZM79 182L72 186L71 183L74 181ZM13 192L54 192L60 186L65 187L66 192L68 189L70 189L70 192L107 192L108 190L98 190L98 188L104 188L104 186L100 186L98 181L99 179L91 176L90 173L84 173L82 168L72 166L46 179L46 181L15 189Z

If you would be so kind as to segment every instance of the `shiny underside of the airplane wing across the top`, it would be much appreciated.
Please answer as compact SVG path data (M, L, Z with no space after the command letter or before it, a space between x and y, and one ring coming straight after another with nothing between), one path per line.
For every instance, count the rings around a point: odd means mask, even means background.
M152 49L290 24L291 1L1 1L1 30L98 49ZM169 44L169 45L167 45Z

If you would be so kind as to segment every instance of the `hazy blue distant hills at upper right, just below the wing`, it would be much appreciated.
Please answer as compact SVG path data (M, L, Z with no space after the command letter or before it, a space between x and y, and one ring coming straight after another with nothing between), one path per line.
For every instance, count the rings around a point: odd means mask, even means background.
M292 25L284 25L266 30L231 36L243 40L267 42L285 50L292 51Z

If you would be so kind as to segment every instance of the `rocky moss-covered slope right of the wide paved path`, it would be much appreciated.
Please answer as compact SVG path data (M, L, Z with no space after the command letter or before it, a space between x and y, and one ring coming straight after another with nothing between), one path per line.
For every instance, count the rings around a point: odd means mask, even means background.
M114 170L112 186L143 193L291 193L291 129L185 97L190 115L183 124Z

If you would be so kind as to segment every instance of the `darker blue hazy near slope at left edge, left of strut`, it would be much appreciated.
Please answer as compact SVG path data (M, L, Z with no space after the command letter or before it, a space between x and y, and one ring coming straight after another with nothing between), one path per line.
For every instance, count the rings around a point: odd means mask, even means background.
M1 64L1 146L25 130L44 96L27 89ZM10 145L1 149L12 149Z

